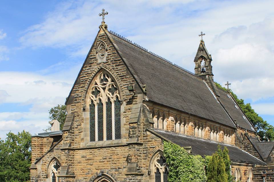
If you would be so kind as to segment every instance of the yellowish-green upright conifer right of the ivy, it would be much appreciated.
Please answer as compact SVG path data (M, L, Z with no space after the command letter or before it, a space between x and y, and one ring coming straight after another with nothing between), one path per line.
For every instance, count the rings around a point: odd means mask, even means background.
M231 182L232 176L230 174L230 159L228 150L225 147L218 150L212 155L207 166L207 182Z

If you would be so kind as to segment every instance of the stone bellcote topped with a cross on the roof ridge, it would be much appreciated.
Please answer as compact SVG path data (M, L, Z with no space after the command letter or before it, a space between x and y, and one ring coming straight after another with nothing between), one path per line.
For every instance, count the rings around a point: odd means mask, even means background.
M204 34L201 35L203 36ZM201 36L199 35L199 36ZM200 45L198 47L194 63L195 63L195 75L206 77L209 76L213 80L212 66L211 66L211 54L208 53L205 42L203 39L200 40Z

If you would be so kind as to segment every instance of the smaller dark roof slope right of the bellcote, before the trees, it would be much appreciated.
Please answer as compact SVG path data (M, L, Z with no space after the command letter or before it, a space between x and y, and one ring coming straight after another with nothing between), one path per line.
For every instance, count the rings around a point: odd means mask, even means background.
M251 130L255 132L255 129L253 126L249 123L239 106L234 102L233 98L224 92L223 90L220 90L218 88L215 88L216 92L218 93L219 100L229 113L229 115L232 117L232 119L236 119L237 124L239 127Z

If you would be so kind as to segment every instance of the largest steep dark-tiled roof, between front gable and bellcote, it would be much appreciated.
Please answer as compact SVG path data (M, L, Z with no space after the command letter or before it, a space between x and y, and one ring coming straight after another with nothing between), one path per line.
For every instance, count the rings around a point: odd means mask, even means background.
M106 31L150 101L234 127L205 82L183 69Z

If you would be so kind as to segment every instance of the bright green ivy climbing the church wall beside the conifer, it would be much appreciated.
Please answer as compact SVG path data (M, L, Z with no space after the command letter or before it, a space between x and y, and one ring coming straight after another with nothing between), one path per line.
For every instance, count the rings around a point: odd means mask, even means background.
M167 141L164 141L164 156L169 166L168 181L206 181L204 166L207 166L209 158L204 159L200 155L191 155L179 145Z

